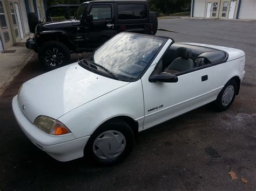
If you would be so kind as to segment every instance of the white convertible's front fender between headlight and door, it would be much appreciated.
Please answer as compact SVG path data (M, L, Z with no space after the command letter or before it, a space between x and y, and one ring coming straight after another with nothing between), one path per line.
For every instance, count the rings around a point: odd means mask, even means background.
M138 80L96 98L58 118L76 138L92 135L104 122L127 116L143 129L144 99L142 82Z

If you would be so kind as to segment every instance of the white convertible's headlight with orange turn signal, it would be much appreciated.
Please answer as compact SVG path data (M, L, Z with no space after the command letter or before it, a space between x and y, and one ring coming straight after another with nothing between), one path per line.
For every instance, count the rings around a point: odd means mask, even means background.
M50 135L65 135L70 133L70 130L62 122L47 116L37 117L34 124Z

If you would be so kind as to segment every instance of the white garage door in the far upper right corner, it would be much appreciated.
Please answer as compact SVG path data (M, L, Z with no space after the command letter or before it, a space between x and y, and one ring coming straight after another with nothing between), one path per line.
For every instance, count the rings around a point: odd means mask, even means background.
M256 19L256 1L255 0L242 0L239 19Z

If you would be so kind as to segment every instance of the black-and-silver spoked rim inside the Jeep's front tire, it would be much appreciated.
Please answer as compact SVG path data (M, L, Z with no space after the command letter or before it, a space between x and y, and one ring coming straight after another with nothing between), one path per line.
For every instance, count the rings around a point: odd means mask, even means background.
M63 53L59 48L49 48L45 51L45 62L50 66L60 66L63 63Z

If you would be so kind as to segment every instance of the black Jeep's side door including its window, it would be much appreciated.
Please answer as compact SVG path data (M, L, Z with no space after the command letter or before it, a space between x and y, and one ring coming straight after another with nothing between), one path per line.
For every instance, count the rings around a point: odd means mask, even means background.
M92 15L93 21L86 23L84 39L86 47L96 48L116 34L113 3L91 4L89 15Z

